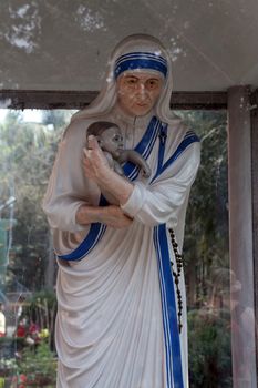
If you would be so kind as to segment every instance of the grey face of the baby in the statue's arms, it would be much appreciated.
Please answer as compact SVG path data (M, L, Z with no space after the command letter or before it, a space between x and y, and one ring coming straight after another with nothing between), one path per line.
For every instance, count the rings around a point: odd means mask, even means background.
M117 156L117 152L123 149L123 135L117 126L111 126L99 136L99 143L102 150Z

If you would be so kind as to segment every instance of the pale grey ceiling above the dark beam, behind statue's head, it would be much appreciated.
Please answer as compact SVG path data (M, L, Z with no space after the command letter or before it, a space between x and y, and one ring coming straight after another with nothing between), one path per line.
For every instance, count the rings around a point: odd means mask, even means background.
M0 89L99 90L125 35L159 38L175 91L258 86L255 0L48 0L0 3Z

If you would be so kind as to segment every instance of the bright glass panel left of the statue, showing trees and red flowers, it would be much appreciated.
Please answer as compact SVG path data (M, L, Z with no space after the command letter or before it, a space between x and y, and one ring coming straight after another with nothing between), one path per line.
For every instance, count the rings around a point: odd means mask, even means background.
M55 387L56 267L41 202L72 113L0 110L0 378L7 386Z

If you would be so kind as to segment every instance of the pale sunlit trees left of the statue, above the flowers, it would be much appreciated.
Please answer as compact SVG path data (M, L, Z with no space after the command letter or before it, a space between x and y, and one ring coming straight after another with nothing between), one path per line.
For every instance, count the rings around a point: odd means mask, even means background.
M51 118L54 119L51 124ZM16 196L13 247L9 272L30 290L44 287L49 261L49 226L41 208L56 153L58 141L71 112L51 112L45 124L24 122L21 113L10 111L0 124L0 198ZM9 210L2 216L9 217ZM7 290L13 290L8 274ZM16 289L14 289L16 290Z

